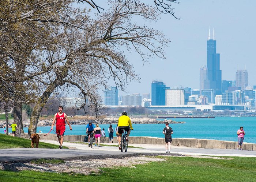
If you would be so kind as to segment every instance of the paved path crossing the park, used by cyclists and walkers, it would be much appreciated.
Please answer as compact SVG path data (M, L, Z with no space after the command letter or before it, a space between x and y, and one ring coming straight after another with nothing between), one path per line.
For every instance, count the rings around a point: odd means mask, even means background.
M57 141L40 141L59 145ZM113 145L113 143L104 143ZM139 155L211 155L211 156L239 156L239 157L256 157L256 151L248 150L231 150L231 149L202 149L184 146L172 146L171 153L165 153L164 145L145 145L145 144L129 144L139 148L128 148L127 153L121 153L117 146L93 146L93 149L88 145L64 142L64 146L69 149L32 149L32 148L17 148L17 149L1 149L0 162L15 163L15 162L30 162L33 159L104 159L104 158L122 158ZM40 147L40 143L39 143Z

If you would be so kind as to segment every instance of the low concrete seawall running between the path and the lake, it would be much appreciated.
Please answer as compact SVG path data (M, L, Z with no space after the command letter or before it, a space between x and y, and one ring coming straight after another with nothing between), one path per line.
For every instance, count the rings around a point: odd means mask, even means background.
M25 134L27 136L27 133ZM58 138L56 134L39 134L42 140L54 140L57 141ZM83 142L86 135L64 135L64 141L71 142ZM117 142L117 138L114 137L113 143ZM101 143L109 143L109 137L101 137ZM129 143L138 144L155 144L164 145L164 138L157 137L129 137ZM65 144L64 144L65 145ZM233 141L219 141L219 140L208 140L208 139L194 139L194 138L173 138L172 145L174 146L187 146L187 147L197 147L206 149L236 149L237 142ZM243 143L244 150L256 150L255 143Z

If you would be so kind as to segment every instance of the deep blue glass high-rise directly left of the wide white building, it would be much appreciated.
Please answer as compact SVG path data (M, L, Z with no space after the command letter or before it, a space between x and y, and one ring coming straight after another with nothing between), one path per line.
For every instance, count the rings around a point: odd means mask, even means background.
M165 83L153 81L151 83L151 105L165 106Z

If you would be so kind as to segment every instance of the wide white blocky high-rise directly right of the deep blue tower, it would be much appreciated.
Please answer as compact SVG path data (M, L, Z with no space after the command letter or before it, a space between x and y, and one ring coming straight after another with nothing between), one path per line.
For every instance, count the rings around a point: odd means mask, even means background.
M184 105L185 92L184 88L171 88L165 90L165 104L166 106Z

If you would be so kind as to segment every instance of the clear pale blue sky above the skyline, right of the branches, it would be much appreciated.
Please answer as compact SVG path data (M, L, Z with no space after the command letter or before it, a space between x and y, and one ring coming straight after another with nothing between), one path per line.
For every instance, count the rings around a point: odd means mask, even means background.
M174 4L175 14L161 14L157 24L149 25L163 31L172 42L165 49L166 59L158 58L143 66L138 55L129 61L140 75L140 83L127 86L127 92L151 94L151 82L161 80L167 87L199 89L199 68L206 65L206 43L209 27L215 29L217 53L220 54L222 80L235 80L237 67L248 71L248 82L256 85L255 34L256 1L248 0L184 0ZM135 20L136 21L136 20Z

